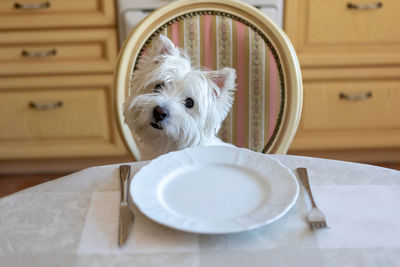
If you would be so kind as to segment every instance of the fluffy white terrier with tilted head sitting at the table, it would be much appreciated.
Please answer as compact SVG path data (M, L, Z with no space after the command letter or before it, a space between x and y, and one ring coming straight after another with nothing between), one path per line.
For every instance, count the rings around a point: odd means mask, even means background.
M217 136L233 102L234 69L203 71L163 35L133 74L125 123L142 160L192 146L224 144Z

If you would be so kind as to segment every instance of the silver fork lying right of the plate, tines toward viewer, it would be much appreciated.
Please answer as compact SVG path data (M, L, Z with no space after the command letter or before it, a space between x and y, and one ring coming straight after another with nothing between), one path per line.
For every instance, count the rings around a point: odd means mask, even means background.
M307 214L308 224L312 229L326 228L328 227L326 223L325 215L317 208L314 202L313 195L311 193L310 182L308 180L308 173L306 168L297 168L297 172L300 175L300 180L303 183L305 189L311 200L312 209Z

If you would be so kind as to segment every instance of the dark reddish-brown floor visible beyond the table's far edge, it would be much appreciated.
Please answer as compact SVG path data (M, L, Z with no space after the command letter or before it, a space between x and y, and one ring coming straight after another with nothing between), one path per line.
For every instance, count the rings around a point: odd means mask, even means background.
M381 167L400 170L400 163L379 164ZM43 174L43 175L2 175L0 174L0 197L18 192L25 188L35 186L47 181L65 176L68 173Z

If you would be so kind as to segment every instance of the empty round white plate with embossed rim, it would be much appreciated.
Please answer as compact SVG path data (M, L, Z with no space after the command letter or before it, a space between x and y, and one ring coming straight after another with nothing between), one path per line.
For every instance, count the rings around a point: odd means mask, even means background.
M296 202L299 184L268 155L205 146L153 160L135 175L130 193L139 210L160 224L223 234L276 221Z

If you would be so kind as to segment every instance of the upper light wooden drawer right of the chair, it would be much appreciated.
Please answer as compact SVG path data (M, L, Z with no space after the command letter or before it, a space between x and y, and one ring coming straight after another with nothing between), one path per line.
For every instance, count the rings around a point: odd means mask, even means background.
M349 4L355 8L349 8ZM381 71L383 75L397 77L400 1L286 0L285 6L285 31L295 46L306 79L332 77L330 70L321 66L386 67ZM379 77L382 74L378 71L359 68L354 75ZM343 78L350 76L340 69L336 73Z

